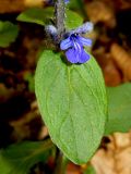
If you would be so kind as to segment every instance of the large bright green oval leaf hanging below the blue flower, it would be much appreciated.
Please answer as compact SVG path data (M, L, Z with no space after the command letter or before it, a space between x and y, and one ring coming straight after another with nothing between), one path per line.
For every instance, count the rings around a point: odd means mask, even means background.
M107 110L104 79L94 58L68 65L59 53L44 51L35 90L52 141L74 163L87 162L103 137Z

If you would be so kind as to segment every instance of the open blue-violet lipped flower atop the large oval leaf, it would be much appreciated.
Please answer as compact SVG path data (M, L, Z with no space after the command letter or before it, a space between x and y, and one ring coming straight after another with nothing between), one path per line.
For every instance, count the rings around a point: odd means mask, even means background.
M66 55L71 63L85 63L90 60L90 54L85 52L84 46L91 46L92 40L80 36L76 33L60 42L60 49L66 50Z

